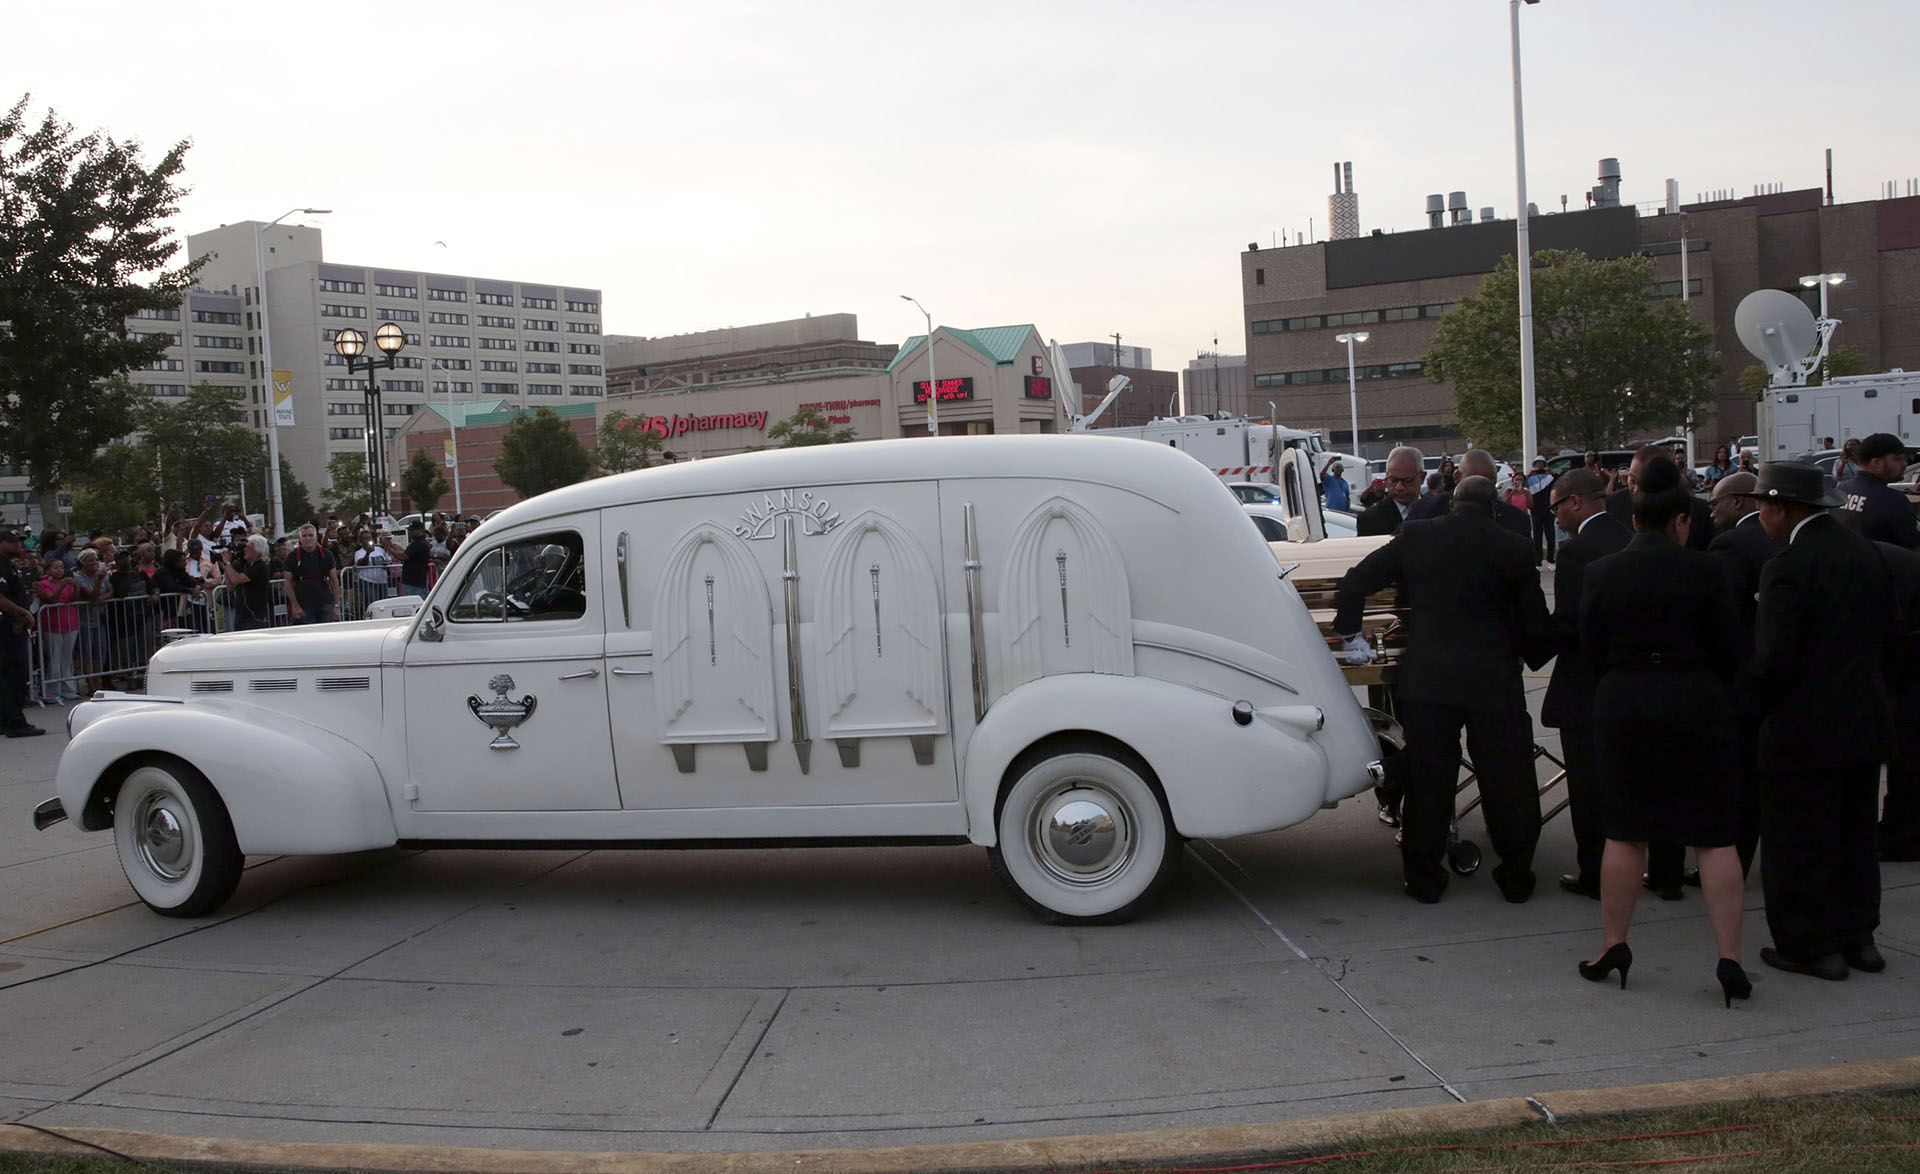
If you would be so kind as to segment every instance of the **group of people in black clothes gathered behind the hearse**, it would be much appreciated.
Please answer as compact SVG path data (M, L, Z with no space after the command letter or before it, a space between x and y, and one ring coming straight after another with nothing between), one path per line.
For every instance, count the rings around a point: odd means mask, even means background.
M1348 663L1371 661L1365 599L1398 586L1405 749L1380 792L1382 819L1402 826L1407 895L1432 903L1448 886L1465 732L1494 882L1509 901L1532 897L1540 795L1523 665L1551 661L1542 724L1561 734L1574 834L1559 884L1601 905L1601 945L1580 974L1624 988L1640 893L1682 899L1697 884L1732 1005L1753 990L1741 893L1755 859L1763 963L1826 980L1885 968L1880 861L1920 861L1920 525L1891 488L1907 471L1891 434L1855 442L1839 484L1811 463L1749 471L1724 455L1709 498L1657 446L1619 475L1594 453L1559 477L1536 463L1521 507L1486 453L1423 496L1423 455L1394 450L1359 530L1392 542L1340 582L1334 630ZM1565 534L1557 550L1538 542L1540 498Z

